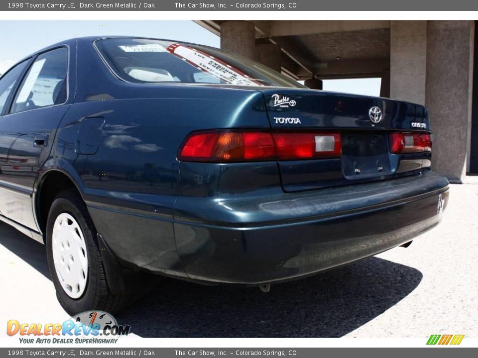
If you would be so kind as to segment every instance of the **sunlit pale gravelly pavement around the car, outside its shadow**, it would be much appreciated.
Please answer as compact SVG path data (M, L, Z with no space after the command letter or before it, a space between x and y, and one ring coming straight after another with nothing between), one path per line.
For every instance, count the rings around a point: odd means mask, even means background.
M443 222L407 249L268 293L167 279L116 316L143 337L476 338L477 211L478 185L451 185ZM68 317L44 256L41 244L0 223L0 324Z

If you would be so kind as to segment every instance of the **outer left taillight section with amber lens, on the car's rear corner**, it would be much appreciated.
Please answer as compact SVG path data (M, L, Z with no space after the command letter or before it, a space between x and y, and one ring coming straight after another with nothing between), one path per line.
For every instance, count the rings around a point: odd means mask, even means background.
M214 131L190 135L178 159L190 162L243 162L275 160L272 136L266 132Z

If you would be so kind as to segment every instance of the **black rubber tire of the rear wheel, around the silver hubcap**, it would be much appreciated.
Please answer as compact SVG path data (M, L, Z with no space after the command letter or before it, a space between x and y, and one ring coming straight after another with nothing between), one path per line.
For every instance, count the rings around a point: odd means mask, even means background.
M81 227L88 255L88 274L86 288L83 294L74 299L66 294L58 279L52 252L53 224L61 213L72 215ZM46 226L46 254L51 279L55 285L56 296L61 306L71 315L88 311L102 310L115 313L128 305L131 296L117 294L110 290L103 260L98 249L96 230L88 213L86 204L73 190L61 191L54 199L48 213Z

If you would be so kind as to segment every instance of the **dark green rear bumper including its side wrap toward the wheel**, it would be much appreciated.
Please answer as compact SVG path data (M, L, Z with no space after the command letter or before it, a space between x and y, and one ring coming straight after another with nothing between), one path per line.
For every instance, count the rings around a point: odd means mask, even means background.
M122 266L209 283L257 285L407 243L435 226L447 203L448 180L426 172L306 192L179 196L170 218L92 202L88 208Z

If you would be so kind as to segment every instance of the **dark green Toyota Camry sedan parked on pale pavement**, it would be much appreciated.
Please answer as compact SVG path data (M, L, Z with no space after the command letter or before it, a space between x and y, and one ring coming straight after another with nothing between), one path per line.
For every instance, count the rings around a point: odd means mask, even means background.
M147 271L260 286L435 226L425 107L311 90L215 48L72 39L0 79L0 218L46 245L69 313Z

